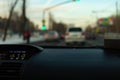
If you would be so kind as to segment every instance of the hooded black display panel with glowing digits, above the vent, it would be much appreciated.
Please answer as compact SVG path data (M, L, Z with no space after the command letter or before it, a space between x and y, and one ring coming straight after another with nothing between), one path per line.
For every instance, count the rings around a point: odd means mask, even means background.
M33 45L0 45L0 60L28 60L42 51Z

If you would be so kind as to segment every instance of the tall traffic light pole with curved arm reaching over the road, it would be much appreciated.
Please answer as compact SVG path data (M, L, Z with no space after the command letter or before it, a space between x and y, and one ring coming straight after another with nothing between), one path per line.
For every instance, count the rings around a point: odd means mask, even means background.
M64 5L64 4L67 4L67 3L70 3L70 2L78 2L78 1L80 1L80 0L68 0L68 1L65 1L65 2L62 2L62 3L59 3L59 4L56 4L56 5L54 5L54 6L51 6L51 7L49 7L49 8L46 8L46 9L44 9L43 10L43 20L42 20L42 27L46 27L45 25L45 14L46 14L46 11L48 11L48 10L50 10L50 9L53 9L53 8L55 8L55 7L58 7L58 6L61 6L61 5Z

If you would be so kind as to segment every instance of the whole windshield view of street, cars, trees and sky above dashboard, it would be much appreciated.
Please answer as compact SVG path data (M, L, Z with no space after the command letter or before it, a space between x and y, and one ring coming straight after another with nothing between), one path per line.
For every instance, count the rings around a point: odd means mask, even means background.
M119 5L119 0L0 0L0 44L117 44Z

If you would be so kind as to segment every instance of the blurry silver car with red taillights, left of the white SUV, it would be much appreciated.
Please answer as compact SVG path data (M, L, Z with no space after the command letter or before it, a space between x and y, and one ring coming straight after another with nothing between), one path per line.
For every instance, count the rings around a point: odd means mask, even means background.
M59 41L60 36L57 31L48 31L44 34L46 41Z

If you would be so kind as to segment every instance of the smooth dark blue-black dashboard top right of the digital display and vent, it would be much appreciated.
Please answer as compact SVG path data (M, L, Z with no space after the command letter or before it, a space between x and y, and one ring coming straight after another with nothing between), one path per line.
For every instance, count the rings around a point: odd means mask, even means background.
M45 48L27 61L23 79L120 79L119 53L100 48Z

